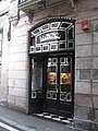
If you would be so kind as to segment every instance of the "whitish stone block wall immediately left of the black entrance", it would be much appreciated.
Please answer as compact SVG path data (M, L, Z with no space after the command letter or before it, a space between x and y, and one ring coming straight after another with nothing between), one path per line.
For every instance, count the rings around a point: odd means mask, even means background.
M9 48L9 76L8 76L8 103L13 108L26 111L28 88L28 25L27 17L20 20L14 27L11 26L11 43Z

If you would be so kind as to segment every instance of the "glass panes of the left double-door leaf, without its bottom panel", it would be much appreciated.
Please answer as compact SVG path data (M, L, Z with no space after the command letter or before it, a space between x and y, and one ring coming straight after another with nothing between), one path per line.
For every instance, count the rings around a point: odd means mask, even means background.
M48 69L47 69L47 98L57 99L57 68L58 59L48 58Z

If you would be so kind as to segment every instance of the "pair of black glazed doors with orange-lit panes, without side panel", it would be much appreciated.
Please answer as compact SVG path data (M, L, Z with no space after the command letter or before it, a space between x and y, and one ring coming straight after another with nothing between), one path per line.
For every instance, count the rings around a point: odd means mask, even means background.
M49 57L46 70L45 109L61 116L73 116L73 57Z

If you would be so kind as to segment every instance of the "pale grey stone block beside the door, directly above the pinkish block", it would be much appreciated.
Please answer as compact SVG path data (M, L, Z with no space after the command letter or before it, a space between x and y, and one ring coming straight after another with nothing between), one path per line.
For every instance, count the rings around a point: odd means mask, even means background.
M90 94L90 83L89 82L76 82L75 93L79 94Z

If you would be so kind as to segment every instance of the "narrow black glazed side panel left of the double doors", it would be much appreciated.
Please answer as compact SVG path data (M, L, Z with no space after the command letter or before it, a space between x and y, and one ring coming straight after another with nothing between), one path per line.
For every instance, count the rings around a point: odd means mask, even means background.
M29 91L29 111L41 112L42 100L42 59L30 59L30 91Z

